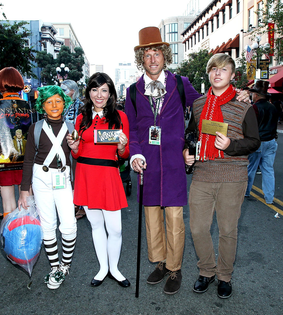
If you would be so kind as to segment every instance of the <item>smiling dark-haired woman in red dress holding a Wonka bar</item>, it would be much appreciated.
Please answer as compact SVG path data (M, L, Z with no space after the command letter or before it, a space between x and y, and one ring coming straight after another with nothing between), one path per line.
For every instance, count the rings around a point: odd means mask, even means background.
M126 114L115 109L115 86L107 74L95 73L90 77L85 97L86 103L75 124L79 140L72 140L69 134L67 141L73 157L77 159L74 203L83 205L91 223L100 264L91 285L99 286L108 275L122 287L128 287L130 282L117 266L122 244L121 209L128 204L116 151L118 149L118 154L123 158L129 156L129 123ZM121 129L119 143L94 143L94 132L99 129Z

